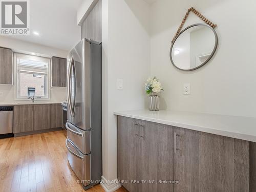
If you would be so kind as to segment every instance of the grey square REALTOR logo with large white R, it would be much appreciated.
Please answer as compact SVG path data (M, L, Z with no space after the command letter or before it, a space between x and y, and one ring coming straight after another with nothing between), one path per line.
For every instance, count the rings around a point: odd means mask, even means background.
M0 35L29 35L29 0L0 2Z

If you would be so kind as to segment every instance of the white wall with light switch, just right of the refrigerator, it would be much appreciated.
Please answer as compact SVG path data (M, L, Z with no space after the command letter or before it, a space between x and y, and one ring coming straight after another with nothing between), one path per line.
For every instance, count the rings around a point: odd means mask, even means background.
M117 178L114 111L144 109L150 74L150 6L144 1L102 1L103 176ZM123 90L117 90L123 79Z

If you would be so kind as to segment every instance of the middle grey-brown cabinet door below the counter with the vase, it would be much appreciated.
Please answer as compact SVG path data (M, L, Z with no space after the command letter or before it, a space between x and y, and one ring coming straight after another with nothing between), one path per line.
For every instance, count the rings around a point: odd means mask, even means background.
M140 192L173 191L173 126L140 120L139 180ZM155 183L148 183L154 181Z

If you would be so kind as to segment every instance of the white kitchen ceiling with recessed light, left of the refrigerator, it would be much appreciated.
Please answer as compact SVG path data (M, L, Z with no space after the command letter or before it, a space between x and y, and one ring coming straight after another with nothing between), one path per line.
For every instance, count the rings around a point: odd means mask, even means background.
M82 0L30 1L30 35L10 36L62 50L70 50L80 40L77 8ZM34 35L36 31L39 35Z

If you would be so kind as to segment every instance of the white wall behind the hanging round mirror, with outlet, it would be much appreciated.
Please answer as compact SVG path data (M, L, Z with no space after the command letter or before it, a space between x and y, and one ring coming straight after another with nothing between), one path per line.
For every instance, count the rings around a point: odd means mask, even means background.
M216 23L219 47L202 68L182 72L169 59L170 41L188 8ZM255 23L253 0L159 0L151 6L151 74L164 92L161 109L256 117ZM185 26L202 23L190 13ZM183 95L190 82L191 95Z

